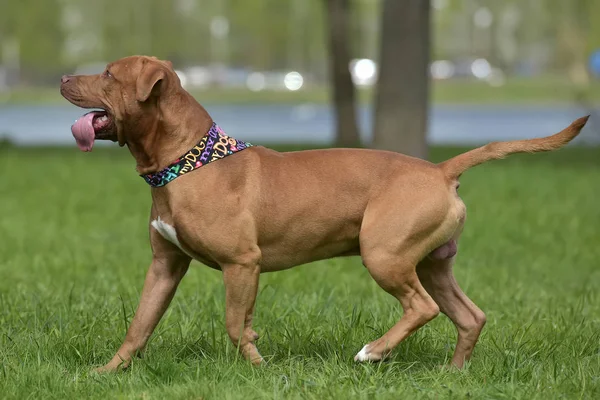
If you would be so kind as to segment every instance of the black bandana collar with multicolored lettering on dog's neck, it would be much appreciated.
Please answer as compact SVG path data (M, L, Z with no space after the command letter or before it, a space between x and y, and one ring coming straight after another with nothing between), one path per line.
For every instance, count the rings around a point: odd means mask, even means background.
M248 147L252 147L252 144L227 136L213 122L210 130L200 139L200 142L190 151L179 157L173 164L162 171L140 176L144 178L148 185L161 187L178 176L187 174L203 165L220 160Z

